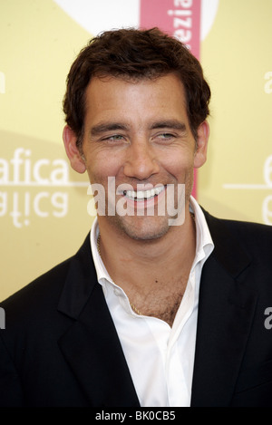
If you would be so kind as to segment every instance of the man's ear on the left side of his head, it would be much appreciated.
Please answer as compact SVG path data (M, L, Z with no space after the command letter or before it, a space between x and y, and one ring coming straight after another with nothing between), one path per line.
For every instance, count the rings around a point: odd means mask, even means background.
M78 173L83 174L86 170L83 155L76 144L77 136L74 131L65 125L63 129L63 142L66 150L67 157L70 160L71 167Z

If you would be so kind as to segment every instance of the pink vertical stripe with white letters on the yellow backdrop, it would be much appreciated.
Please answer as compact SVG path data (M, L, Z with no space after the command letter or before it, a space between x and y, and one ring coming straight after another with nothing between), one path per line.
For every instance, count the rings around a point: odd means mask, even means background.
M201 0L141 0L140 26L174 35L199 59ZM192 195L197 198L197 172Z

